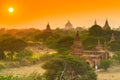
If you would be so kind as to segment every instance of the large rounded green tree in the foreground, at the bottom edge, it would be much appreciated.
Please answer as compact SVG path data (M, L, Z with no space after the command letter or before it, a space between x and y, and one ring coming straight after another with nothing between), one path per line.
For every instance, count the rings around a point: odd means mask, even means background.
M60 55L43 65L46 80L97 80L96 74L84 59Z

